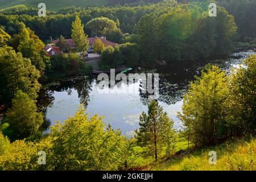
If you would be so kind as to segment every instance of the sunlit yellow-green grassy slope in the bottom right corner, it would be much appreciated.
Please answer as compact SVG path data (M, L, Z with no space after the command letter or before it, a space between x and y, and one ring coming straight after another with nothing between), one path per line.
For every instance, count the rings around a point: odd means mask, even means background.
M185 147L185 146L183 146ZM217 164L210 165L209 151L217 152ZM152 163L152 170L256 170L256 138L233 139L217 146L201 148L190 154L172 156Z

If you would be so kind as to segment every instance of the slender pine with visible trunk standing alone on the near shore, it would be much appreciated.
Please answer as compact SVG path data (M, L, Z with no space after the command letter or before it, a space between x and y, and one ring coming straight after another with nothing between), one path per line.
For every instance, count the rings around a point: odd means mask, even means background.
M174 148L175 130L172 128L174 121L170 119L166 112L163 112L157 101L148 104L148 113L142 113L139 117L139 130L136 131L138 141L149 148L150 153L154 153L155 160L158 154L167 146L167 154Z

